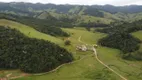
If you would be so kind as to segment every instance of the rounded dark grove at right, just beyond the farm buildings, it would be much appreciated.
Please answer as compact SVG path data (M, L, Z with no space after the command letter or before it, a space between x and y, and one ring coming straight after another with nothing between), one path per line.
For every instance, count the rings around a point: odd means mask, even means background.
M99 44L111 48L117 48L124 53L134 52L139 49L141 41L128 33L114 33L99 40Z

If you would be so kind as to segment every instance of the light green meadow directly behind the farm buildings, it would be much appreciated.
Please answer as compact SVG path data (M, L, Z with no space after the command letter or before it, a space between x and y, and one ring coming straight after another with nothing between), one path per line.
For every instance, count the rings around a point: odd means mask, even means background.
M75 44L78 44L78 38L79 36L82 36L81 40L83 42L86 42L87 44L96 44L99 39L106 36L106 34L99 33L99 32L88 32L86 29L82 28L75 28L75 29L63 29L66 32L69 32L70 34L73 34L71 39L74 41Z

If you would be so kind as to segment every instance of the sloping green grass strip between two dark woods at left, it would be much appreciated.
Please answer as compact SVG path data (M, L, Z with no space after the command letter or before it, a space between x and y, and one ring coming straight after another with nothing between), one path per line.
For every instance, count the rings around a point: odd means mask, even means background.
M0 19L0 26L9 26L10 28L17 29L20 32L22 32L24 35L30 38L44 39L44 40L54 42L56 44L60 44L60 45L63 44L63 41L56 37L41 33L29 26L20 24L18 22L6 20L6 19Z

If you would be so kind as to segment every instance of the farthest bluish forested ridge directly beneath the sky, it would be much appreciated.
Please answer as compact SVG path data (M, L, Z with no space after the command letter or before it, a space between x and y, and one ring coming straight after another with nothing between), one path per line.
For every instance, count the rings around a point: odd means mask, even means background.
M0 9L4 10L4 7L13 8L17 10L46 10L46 9L56 9L57 12L67 13L70 9L78 6L81 8L86 7L87 9L96 8L101 9L107 12L115 13L115 12L126 12L126 13L136 13L142 12L142 6L139 5L130 5L130 6L112 6L112 5L92 5L92 6L84 6L84 5L55 5L55 4L32 4L32 3L23 3L23 2L12 2L12 3L0 3Z

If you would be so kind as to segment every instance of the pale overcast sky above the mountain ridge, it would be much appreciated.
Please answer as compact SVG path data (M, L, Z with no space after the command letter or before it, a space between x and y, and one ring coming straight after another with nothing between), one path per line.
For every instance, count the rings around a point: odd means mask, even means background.
M54 3L54 4L79 4L79 5L105 5L115 6L142 5L142 0L0 0L0 2L31 2L31 3Z

